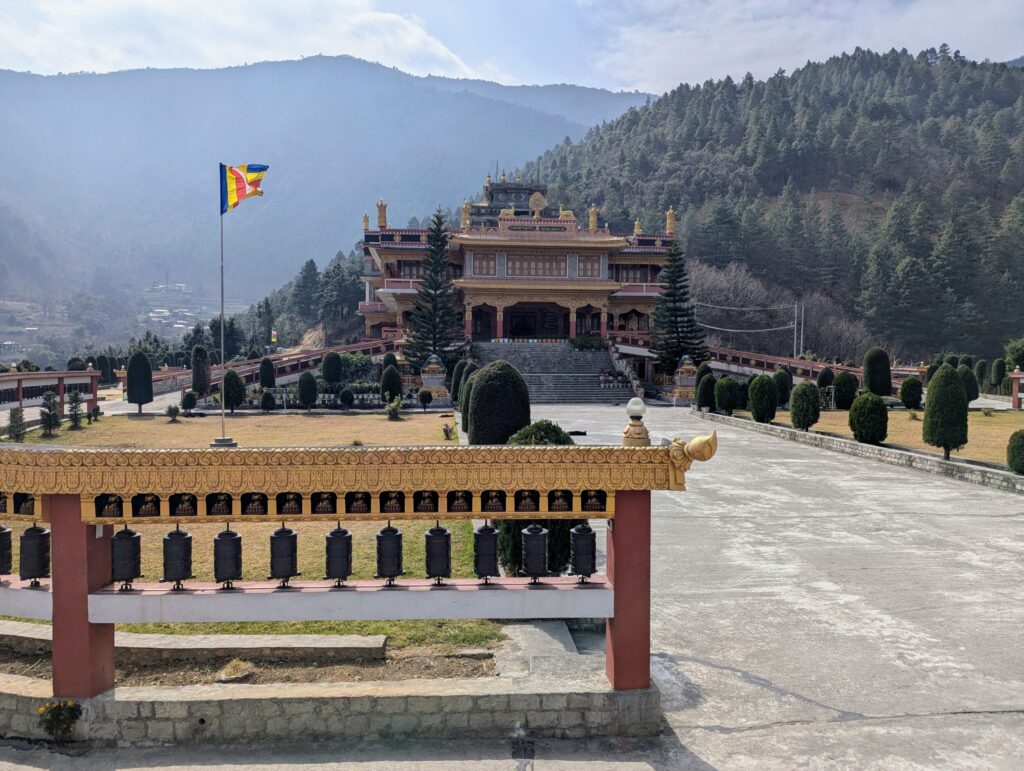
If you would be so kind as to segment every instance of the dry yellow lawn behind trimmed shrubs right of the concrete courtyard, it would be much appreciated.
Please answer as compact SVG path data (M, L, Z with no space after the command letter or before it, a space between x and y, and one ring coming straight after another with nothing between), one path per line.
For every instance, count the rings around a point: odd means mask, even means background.
M750 417L748 412L736 412L737 416ZM924 411L916 411L921 420L910 420L910 411L891 410L889 412L889 436L886 444L899 444L904 447L915 449L927 449L941 456L940 447L933 447L926 444L922 439L924 431ZM779 411L775 416L774 423L788 426L790 414ZM849 413L843 410L828 410L821 413L819 420L813 429L827 431L843 436L853 436L850 431ZM991 417L986 417L980 412L968 413L968 443L963 449L953 452L955 458L968 458L975 461L987 461L989 463L1007 463L1007 442L1010 441L1010 434L1024 428L1024 412L1018 410L993 411Z

